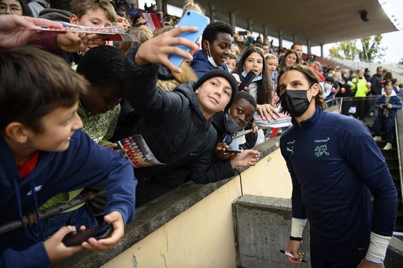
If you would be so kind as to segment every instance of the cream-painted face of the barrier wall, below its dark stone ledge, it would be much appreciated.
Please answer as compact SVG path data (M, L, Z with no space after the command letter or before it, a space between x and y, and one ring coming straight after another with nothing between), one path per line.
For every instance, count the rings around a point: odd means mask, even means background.
M289 198L289 175L280 175L284 169L276 150L241 173L243 192ZM126 267L132 262L135 267L235 267L231 205L240 195L240 178L227 181L104 267Z

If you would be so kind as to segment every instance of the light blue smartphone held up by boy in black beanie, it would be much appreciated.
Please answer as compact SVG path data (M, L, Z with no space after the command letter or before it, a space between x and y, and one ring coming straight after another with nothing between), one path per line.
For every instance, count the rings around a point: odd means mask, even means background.
M204 29L208 26L208 23L210 23L210 19L204 15L201 15L193 10L188 10L185 15L183 15L181 21L177 24L177 27L179 26L196 26L198 28L197 32L183 32L181 35L178 35L178 37L183 37L186 38L193 43L196 43L197 39L202 35ZM185 50L186 52L190 51L190 48L186 46L179 45L179 48ZM183 57L176 55L176 54L170 54L168 59L174 64L174 66L179 67L182 64Z

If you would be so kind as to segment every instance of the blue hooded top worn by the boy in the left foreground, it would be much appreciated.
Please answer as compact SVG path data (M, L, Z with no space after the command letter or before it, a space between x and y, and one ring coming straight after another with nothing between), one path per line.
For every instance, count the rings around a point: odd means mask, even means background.
M133 167L118 152L99 146L82 131L75 131L62 152L39 151L37 165L23 180L8 144L0 135L0 225L22 220L57 193L84 186L105 187L105 214L118 211L125 223L134 220L137 181ZM0 235L0 267L47 267L51 262L44 242L26 227Z

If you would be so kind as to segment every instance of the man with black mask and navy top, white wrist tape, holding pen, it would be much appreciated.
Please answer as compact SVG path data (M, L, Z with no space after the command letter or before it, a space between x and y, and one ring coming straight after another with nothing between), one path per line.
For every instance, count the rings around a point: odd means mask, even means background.
M292 178L292 233L287 251L301 263L310 221L312 267L383 267L395 228L397 191L381 151L356 119L324 111L319 78L290 66L278 83L293 126L280 139ZM374 205L370 200L374 195Z

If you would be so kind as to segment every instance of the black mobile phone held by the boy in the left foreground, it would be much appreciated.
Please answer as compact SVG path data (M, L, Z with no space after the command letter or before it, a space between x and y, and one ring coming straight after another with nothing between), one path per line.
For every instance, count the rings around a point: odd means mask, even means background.
M98 227L68 233L64 236L62 242L66 247L72 247L81 245L82 242L88 242L89 238L95 238L96 240L108 238L113 231L112 224L103 224Z

